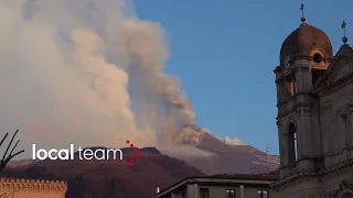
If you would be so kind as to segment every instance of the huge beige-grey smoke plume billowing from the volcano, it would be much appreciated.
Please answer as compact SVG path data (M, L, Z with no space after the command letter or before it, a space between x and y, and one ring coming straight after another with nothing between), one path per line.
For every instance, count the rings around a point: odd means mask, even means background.
M194 112L178 78L162 72L163 31L128 3L0 0L4 132L21 127L22 140L44 147L195 139L179 132Z

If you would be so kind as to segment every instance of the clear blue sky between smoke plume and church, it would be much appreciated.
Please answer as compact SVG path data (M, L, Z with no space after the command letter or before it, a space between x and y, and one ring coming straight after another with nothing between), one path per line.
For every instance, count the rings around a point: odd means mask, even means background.
M329 35L334 52L343 20L353 40L350 0L137 0L135 9L163 26L171 53L165 72L181 79L196 124L277 154L272 70L282 42L301 23L301 3L307 22Z

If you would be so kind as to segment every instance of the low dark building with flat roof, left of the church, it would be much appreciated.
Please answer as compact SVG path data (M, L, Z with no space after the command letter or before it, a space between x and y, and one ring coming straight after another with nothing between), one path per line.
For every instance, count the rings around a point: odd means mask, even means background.
M269 185L277 175L215 175L185 178L156 198L277 198Z

